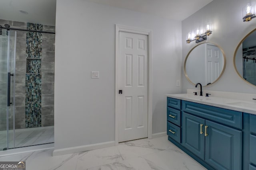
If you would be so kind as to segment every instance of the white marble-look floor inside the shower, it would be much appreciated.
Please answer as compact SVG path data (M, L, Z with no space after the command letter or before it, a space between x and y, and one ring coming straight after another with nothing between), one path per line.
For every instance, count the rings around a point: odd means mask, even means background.
M54 143L54 126L9 130L9 149ZM14 143L15 141L15 143ZM0 150L6 148L6 131L0 131Z

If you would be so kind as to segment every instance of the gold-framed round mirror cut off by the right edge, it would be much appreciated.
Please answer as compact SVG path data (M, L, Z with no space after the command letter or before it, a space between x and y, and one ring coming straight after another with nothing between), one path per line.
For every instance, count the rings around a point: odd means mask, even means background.
M234 54L234 66L243 80L256 86L256 29L238 44Z

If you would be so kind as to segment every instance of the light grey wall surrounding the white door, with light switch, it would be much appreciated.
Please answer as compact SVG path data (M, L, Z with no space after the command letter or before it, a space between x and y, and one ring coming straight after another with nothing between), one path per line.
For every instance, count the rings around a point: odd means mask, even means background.
M55 149L114 141L115 24L152 30L153 133L166 131L166 96L179 93L181 22L85 0L57 0ZM100 71L91 79L91 71Z

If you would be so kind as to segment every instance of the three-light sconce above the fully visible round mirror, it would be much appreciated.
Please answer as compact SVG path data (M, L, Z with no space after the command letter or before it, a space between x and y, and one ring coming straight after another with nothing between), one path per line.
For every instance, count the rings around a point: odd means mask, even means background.
M207 35L211 35L212 34L212 24L211 23L207 23L206 24L206 32L202 33L200 32L200 29L197 28L196 30L196 36L195 39L191 39L191 33L187 34L187 39L186 42L189 44L191 41L196 41L196 43L199 43L201 41L204 41L207 39Z

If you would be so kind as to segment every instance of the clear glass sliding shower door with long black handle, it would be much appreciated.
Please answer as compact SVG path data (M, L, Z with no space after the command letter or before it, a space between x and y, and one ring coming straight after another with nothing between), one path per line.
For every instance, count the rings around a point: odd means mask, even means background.
M15 35L15 33L13 34ZM10 35L10 31L3 31L0 36L0 150L7 150L9 138L11 132L9 133L9 128L12 129L12 119L14 107L13 102L13 90L14 79L12 75L14 74L15 59L14 46L15 37ZM12 44L11 44L12 42ZM12 57L11 57L12 55ZM9 133L9 134L8 134Z

